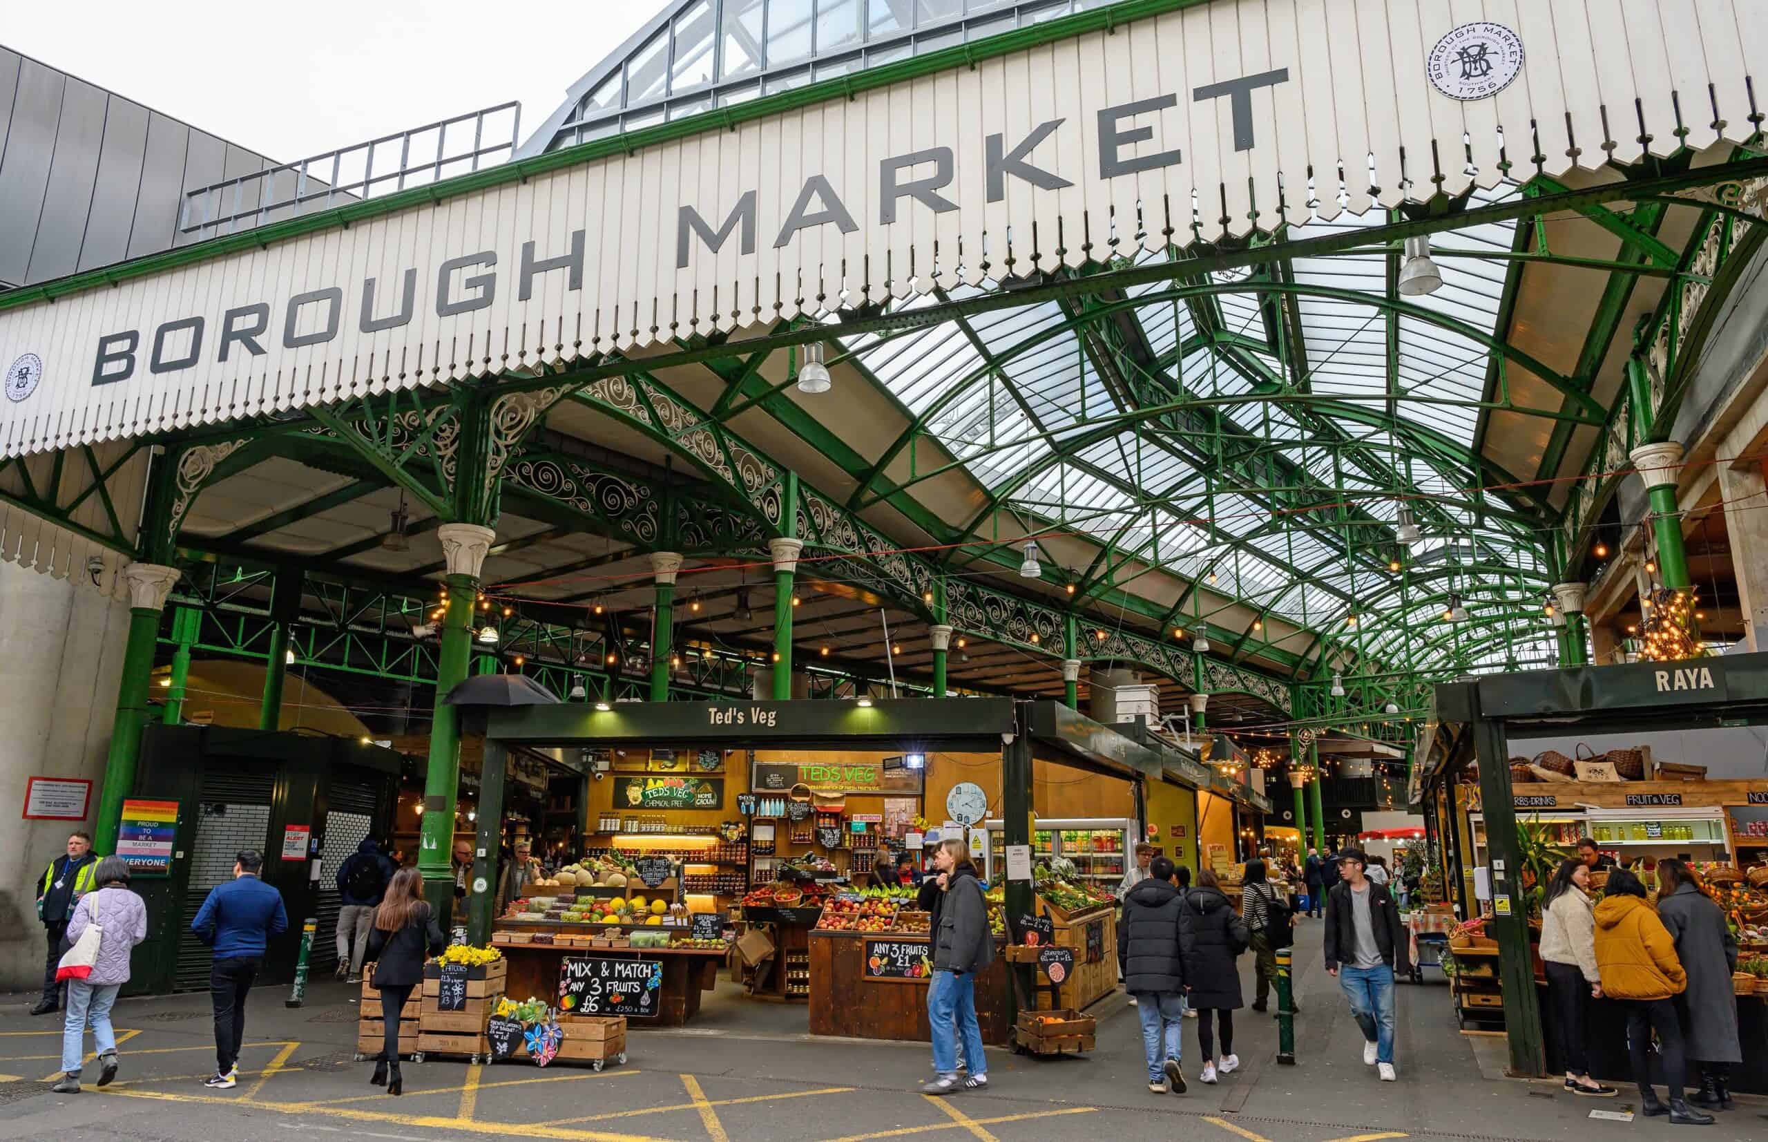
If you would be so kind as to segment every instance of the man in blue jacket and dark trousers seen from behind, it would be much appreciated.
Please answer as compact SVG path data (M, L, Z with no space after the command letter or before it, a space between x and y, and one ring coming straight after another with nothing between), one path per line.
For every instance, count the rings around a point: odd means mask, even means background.
M246 992L263 963L265 940L288 930L283 895L258 879L263 854L240 849L233 879L209 889L191 932L214 948L209 1001L216 1013L216 1073L205 1087L232 1087L239 1078L239 1045L246 1038Z

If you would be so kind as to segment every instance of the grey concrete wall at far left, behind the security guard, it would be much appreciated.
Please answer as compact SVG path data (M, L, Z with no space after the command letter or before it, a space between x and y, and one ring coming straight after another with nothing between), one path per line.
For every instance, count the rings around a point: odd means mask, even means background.
M88 778L97 806L127 633L126 603L0 562L0 990L42 983L35 879L74 827L23 820L25 781Z

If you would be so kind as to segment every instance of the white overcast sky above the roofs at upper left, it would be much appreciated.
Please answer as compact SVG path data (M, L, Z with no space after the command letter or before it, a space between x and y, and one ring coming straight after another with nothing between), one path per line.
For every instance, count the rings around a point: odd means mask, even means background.
M527 138L663 4L0 0L0 44L286 163L509 99Z

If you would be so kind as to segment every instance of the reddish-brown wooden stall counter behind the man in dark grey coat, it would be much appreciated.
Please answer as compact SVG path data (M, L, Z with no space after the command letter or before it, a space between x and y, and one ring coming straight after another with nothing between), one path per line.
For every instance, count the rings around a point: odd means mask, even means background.
M932 1034L926 956L925 935L812 932L810 1032L925 1043ZM994 1047L1013 1041L1006 988L1006 960L997 946L995 958L976 978L976 1020L983 1043Z

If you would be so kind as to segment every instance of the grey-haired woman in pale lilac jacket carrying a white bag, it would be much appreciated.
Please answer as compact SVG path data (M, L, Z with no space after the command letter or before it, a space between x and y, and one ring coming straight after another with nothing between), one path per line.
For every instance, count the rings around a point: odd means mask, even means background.
M147 939L147 905L129 891L129 864L108 856L92 873L99 891L80 898L67 921L72 948L62 956L55 978L67 981L67 1020L62 1024L62 1080L57 1094L80 1093L80 1061L87 1027L99 1054L99 1082L117 1077L117 1032L110 1009L117 992L129 983L129 953Z

